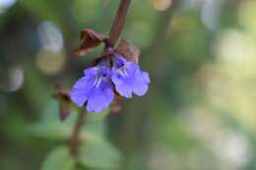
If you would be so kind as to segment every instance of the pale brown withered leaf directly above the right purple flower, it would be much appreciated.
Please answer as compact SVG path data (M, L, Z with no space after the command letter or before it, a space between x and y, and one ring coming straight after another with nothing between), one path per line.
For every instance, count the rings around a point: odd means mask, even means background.
M116 52L124 56L128 61L139 63L140 49L127 40L121 40L116 48Z

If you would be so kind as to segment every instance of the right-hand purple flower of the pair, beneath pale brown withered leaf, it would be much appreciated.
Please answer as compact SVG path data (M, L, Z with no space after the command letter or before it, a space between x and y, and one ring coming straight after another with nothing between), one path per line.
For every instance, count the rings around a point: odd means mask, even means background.
M139 96L144 95L150 84L147 72L141 71L137 64L126 61L118 54L114 57L111 81L115 85L116 91L126 98L131 98L132 93Z

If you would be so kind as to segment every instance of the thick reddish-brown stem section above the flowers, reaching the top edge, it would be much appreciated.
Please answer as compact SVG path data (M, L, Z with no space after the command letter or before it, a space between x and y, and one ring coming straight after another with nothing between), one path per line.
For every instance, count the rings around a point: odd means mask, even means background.
M109 43L111 46L114 46L115 42L118 40L118 37L121 34L130 4L131 0L121 0L120 2L112 28L109 33Z

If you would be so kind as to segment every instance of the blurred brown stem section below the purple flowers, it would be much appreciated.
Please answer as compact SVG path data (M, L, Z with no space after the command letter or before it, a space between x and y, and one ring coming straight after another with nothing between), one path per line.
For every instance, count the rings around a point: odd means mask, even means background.
M70 142L69 142L70 154L74 157L77 157L79 155L79 140L80 140L79 134L85 122L85 118L86 118L86 112L85 112L85 109L82 109L79 112L79 115L77 117L76 124L71 134Z

